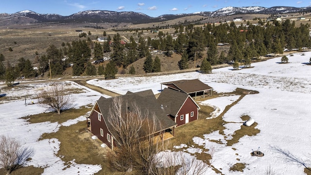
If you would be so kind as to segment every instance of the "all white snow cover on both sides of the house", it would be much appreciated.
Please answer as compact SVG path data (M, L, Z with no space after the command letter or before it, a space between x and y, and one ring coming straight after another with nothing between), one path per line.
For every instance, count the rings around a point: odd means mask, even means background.
M200 138L194 137L193 141L198 145L204 145L207 149L214 148L212 165L225 175L262 175L269 166L279 175L304 175L304 167L284 161L282 155L276 153L272 147L288 150L302 159L311 156L311 128L309 126L311 123L311 66L303 64L309 62L310 57L311 52L307 52L305 55L296 53L294 56L288 56L290 62L288 64L277 64L280 62L280 58L274 58L253 63L254 68L252 69L232 71L232 67L227 67L213 70L212 74L190 72L154 77L122 77L115 80L99 81L94 79L88 83L121 94L125 94L128 90L137 92L146 89L152 89L154 93L159 93L161 82L195 78L208 84L217 92L231 92L235 88L258 90L259 94L246 95L225 113L224 120L228 122L225 125L225 136L214 131ZM101 95L72 82L66 82L66 84L67 86L64 86L66 88L82 89L81 93L72 94L76 99L74 107L77 108L94 104ZM68 126L85 120L84 116L65 123L31 124L20 119L47 110L36 104L25 106L24 99L20 98L25 94L36 94L37 90L45 86L47 85L31 85L27 88L26 86L17 86L10 91L1 91L7 97L17 97L11 101L0 101L1 134L17 138L26 147L31 148L34 151L34 156L31 161L27 162L27 165L45 168L44 175L74 175L77 174L77 171L80 171L80 175L89 175L100 171L102 167L99 165L76 164L74 160L72 160L73 165L63 171L65 162L56 156L60 142L57 139L38 141L43 133L57 132L61 125ZM29 95L27 98L28 101L31 101L32 96ZM201 102L201 104L215 106L214 115L216 117L226 105L230 105L238 98L239 96L224 96ZM256 128L260 130L260 133L257 136L244 136L238 143L226 146L226 139L232 138L234 132L240 129L243 122L242 115L249 115L255 119L258 123ZM223 144L211 140L221 140ZM180 155L189 159L193 159L189 153L202 152L200 148L187 145L187 143L176 146L183 148L184 152ZM250 156L252 149L257 150L258 148L264 153L264 156ZM172 152L163 152L162 154L172 154ZM195 161L200 162L201 160ZM236 163L245 163L246 168L243 172L229 170ZM211 169L207 169L205 174L216 175Z

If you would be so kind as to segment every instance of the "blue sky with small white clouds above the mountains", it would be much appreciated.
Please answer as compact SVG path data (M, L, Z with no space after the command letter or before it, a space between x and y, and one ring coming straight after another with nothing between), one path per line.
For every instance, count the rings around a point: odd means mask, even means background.
M84 10L133 11L150 17L164 14L215 11L227 6L307 7L311 0L10 0L0 5L0 13L31 10L40 14L69 16Z

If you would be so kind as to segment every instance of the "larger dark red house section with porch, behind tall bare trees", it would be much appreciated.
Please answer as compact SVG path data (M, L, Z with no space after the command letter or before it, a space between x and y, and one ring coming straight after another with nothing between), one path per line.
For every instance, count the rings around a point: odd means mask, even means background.
M173 137L174 127L177 125L174 121L169 119L164 113L161 105L158 104L152 90L145 90L141 92L128 92L125 95L119 97L104 98L101 97L96 101L89 116L88 116L88 129L91 133L96 136L99 140L103 141L109 148L113 149L116 146L114 135L116 131L113 129L108 121L109 109L112 107L114 98L122 98L122 110L130 110L133 105L139 106L142 114L147 114L146 120L154 120L153 113L156 116L156 122L158 123L155 135L161 136L171 135ZM123 112L122 112L123 113Z

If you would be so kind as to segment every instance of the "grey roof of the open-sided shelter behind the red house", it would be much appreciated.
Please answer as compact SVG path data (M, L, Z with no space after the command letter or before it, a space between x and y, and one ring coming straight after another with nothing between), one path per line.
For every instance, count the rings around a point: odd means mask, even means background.
M199 79L178 80L178 81L172 81L172 82L165 82L161 84L174 88L176 90L183 91L188 94L213 89L207 84L204 84L203 82L201 82Z

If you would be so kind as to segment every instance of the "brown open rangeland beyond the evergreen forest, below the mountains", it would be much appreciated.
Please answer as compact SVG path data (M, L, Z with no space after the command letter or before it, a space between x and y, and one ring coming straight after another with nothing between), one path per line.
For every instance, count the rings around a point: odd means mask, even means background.
M135 34L135 30L138 29L141 32L140 28L152 28L156 26L168 26L183 23L185 20L187 21L196 21L202 19L202 23L215 23L215 25L219 25L219 22L232 21L233 18L238 17L239 15L228 16L228 17L217 17L217 18L207 18L203 16L189 16L183 18L177 18L169 21L157 22L157 23L147 23L147 24L131 24L131 23L119 23L119 24L53 24L53 23L44 23L44 24L32 24L19 26L18 28L1 28L0 29L0 53L2 53L6 60L9 60L12 64L17 63L17 59L20 57L24 57L25 59L30 59L33 64L37 63L37 57L41 56L45 53L46 49L50 45L55 45L57 48L61 48L61 44L71 43L73 40L86 39L79 38L79 33L75 32L76 30L82 30L84 32L90 31L92 35L87 36L91 39L96 39L96 37L103 36L103 32L106 31L107 35L113 36L117 32L115 30L124 30L124 29L133 29L132 32L122 32L118 31L118 33L122 36L122 38L126 41L129 40L130 36L133 35L135 39L138 40L137 34ZM297 18L299 14L289 14L288 19ZM310 15L306 14L305 17L308 18ZM239 16L240 17L240 16ZM262 18L265 19L268 15L259 15L259 14L250 14L243 15L245 20L249 20L251 23L258 23L257 20L252 20L253 18ZM246 21L242 21L243 24ZM296 27L300 26L300 23L309 23L309 20L295 21ZM236 22L236 24L239 24ZM104 29L94 29L86 26L101 26ZM200 25L203 26L203 25ZM175 29L161 29L164 34L175 32ZM144 30L143 37L150 36L151 38L155 37L157 34L151 34L150 31ZM12 48L13 51L10 52L8 49ZM226 49L228 51L228 49ZM38 53L38 55L35 54ZM178 57L180 59L180 57ZM174 65L177 64L175 60L173 60ZM170 67L171 65L168 65ZM166 69L163 67L163 69Z

